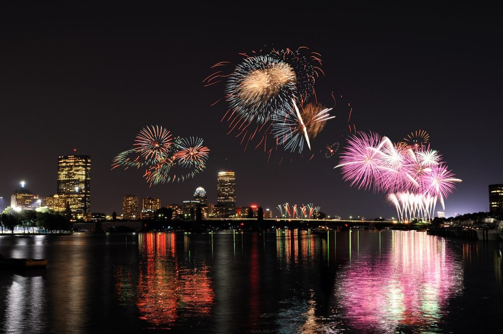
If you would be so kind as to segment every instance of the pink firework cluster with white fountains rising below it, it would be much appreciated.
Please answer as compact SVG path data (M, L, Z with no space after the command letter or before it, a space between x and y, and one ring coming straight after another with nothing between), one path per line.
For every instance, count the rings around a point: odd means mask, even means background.
M386 193L400 221L431 220L437 202L445 210L445 198L461 182L429 145L395 144L377 133L352 135L335 168L351 186Z

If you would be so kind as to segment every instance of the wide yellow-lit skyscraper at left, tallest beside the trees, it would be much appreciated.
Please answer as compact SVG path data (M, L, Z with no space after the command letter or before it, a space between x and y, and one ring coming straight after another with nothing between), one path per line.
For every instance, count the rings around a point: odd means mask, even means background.
M91 220L91 157L58 156L58 192L66 199L72 219Z

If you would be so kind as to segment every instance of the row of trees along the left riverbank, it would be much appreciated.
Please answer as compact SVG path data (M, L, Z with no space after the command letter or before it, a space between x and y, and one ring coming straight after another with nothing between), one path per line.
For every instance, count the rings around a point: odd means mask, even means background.
M48 232L68 231L72 225L70 220L59 212L48 208L39 208L37 210L14 210L7 207L0 213L0 228L14 233L16 226L23 227L23 232L34 232L35 227L45 229Z

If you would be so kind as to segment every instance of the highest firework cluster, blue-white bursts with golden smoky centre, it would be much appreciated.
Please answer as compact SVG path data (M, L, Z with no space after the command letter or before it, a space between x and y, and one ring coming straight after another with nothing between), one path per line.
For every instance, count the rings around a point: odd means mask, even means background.
M229 108L222 121L228 122L228 134L239 137L245 150L249 145L263 148L269 159L278 147L300 154L307 151L311 159L313 139L327 120L335 118L329 115L332 108L319 104L315 94L316 79L324 74L321 56L307 47L240 55L233 71L226 71L232 62L219 62L203 80L206 87L225 83ZM335 104L333 94L332 99ZM351 112L348 124L350 119Z

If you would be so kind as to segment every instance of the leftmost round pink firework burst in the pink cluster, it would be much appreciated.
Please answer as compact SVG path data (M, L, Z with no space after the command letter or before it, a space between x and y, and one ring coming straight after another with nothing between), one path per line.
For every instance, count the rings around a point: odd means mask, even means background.
M374 192L387 188L382 182L386 166L379 151L381 142L381 137L373 132L358 132L350 137L348 146L340 155L340 163L334 167L341 167L344 181L351 182L351 186L358 189L372 188Z

